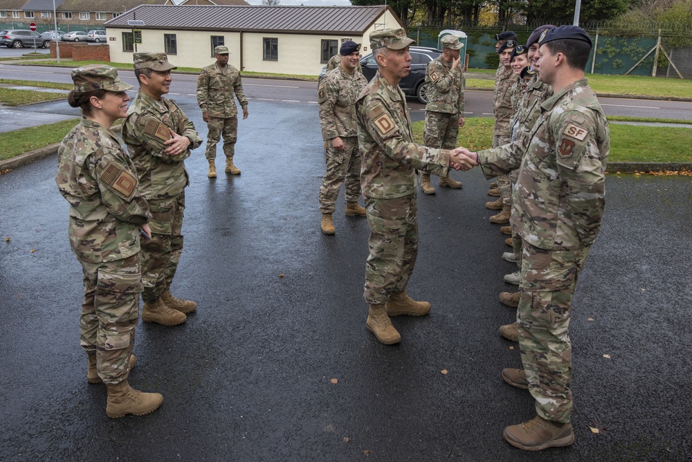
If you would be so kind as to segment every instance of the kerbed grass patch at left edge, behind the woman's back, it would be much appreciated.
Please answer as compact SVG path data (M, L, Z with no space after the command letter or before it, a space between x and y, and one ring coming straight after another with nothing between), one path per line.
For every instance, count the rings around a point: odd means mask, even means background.
M0 160L7 160L62 141L79 119L0 133Z

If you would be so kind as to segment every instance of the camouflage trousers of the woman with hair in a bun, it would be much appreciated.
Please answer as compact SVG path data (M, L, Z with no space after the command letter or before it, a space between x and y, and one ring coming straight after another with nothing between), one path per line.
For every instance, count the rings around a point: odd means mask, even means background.
M129 375L129 355L134 347L142 291L140 255L80 263L84 272L80 344L86 353L96 353L101 380L106 385L116 385Z

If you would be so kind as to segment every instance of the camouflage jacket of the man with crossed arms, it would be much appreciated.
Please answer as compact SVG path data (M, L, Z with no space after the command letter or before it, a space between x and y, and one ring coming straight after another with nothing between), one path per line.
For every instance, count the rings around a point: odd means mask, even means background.
M174 156L164 152L167 145L163 143L171 138L169 128L192 142L188 149ZM122 139L137 167L143 196L164 199L178 196L185 190L190 182L183 160L190 156L190 149L202 144L202 138L172 100L156 101L140 90L127 110Z

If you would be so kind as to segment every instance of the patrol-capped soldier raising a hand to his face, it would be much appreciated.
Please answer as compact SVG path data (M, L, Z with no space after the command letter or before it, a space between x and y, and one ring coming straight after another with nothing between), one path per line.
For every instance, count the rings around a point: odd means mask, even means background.
M464 68L459 57L464 44L454 35L442 37L441 44L442 54L426 68L428 104L423 142L427 147L455 149L459 127L464 126ZM460 181L449 176L440 177L439 185L454 189L462 187ZM429 173L423 174L421 190L425 194L435 194Z

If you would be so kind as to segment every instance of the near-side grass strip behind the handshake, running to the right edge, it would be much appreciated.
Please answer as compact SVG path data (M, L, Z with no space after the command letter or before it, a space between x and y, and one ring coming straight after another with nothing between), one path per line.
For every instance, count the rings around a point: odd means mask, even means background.
M492 118L466 118L458 146L472 151L493 145ZM413 136L423 142L425 122L413 124ZM610 124L610 162L692 162L692 129Z

